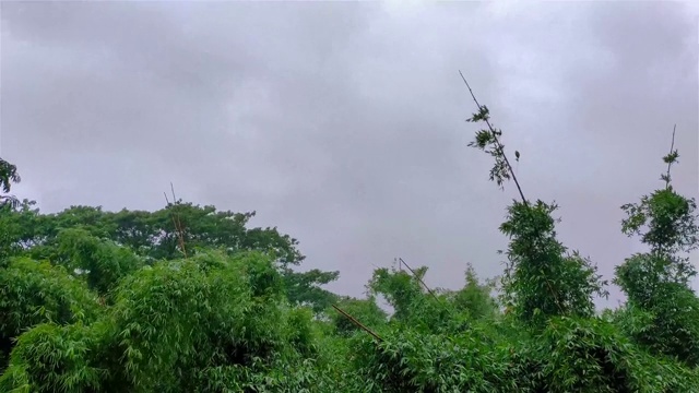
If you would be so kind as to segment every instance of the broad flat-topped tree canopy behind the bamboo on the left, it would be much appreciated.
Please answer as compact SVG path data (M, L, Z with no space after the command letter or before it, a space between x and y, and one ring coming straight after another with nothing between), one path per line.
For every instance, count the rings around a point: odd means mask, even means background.
M298 241L280 234L276 228L247 228L254 212L223 212L214 206L181 202L169 203L156 212L122 210L112 213L100 207L71 206L56 214L40 214L33 206L33 202L24 201L16 209L0 207L0 225L9 229L0 233L0 251L49 259L58 264L66 261L74 266L84 264L79 267L102 277L90 278L92 285L100 286L102 294L133 266L183 258L178 239L181 235L190 255L210 249L227 254L262 251L273 255L292 303L309 305L320 312L335 299L322 285L335 281L339 272L292 269L298 267L305 259L297 249ZM129 255L123 248L141 259ZM82 257L78 259L79 255ZM116 276L103 275L103 271Z

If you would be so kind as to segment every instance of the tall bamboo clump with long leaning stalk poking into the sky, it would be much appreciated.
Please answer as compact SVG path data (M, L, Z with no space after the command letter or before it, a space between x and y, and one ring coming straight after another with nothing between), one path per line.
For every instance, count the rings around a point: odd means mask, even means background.
M502 278L506 306L521 321L540 327L552 317L592 315L593 295L608 295L604 289L605 282L588 259L577 251L568 253L557 240L556 219L552 214L558 206L541 200L531 203L524 196L505 154L502 131L493 126L488 108L478 103L465 78L461 76L478 107L467 121L486 126L476 131L469 145L494 158L490 180L500 188L512 180L520 196L508 206L507 221L500 226L500 231L510 238L507 250L510 264ZM516 157L520 159L519 152Z

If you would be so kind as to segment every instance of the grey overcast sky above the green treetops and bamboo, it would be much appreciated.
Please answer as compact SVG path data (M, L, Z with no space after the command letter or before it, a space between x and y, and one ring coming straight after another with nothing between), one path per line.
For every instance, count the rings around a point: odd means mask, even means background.
M661 186L673 124L699 196L698 8L678 2L2 2L0 154L43 211L257 211L362 295L402 257L455 288L502 270L516 196L467 147L469 79L529 199L614 266L619 206ZM696 260L696 258L695 258ZM615 306L613 298L601 305Z

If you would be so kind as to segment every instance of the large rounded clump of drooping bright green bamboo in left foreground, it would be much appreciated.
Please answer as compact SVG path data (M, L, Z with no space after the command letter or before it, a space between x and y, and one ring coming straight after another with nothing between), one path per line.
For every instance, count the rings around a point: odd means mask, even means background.
M260 252L158 262L120 282L98 321L23 334L2 383L39 392L254 385L279 362L318 352L310 310L285 306L283 289Z

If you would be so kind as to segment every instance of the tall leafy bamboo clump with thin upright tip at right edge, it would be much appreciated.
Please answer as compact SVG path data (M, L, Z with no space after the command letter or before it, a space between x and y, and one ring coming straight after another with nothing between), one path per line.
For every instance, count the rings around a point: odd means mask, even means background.
M674 138L674 135L673 135ZM616 267L615 283L628 297L626 310L617 317L626 332L653 354L677 358L699 366L699 298L689 286L697 274L689 259L680 252L699 246L699 227L694 199L676 193L671 186L670 169L677 151L663 157L667 174L665 188L638 204L621 209L625 234L639 235L650 247Z

